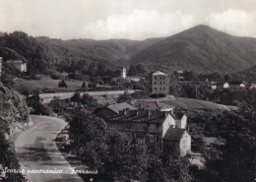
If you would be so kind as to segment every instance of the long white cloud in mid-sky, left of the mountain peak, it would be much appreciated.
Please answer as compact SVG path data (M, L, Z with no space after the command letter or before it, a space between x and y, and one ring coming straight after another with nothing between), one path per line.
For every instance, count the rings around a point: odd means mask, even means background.
M80 30L80 33L96 39L145 39L171 35L194 25L195 18L181 11L160 14L157 11L135 9L130 15L112 15L105 20L97 20Z

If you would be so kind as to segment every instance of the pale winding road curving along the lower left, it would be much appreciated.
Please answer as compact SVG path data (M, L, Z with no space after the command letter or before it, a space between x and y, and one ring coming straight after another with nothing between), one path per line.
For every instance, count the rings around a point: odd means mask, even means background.
M83 182L58 151L54 139L65 127L62 119L34 116L34 126L21 133L15 140L15 150L29 182ZM37 170L36 173L32 169ZM51 170L53 173L47 173ZM29 172L29 173L28 173Z

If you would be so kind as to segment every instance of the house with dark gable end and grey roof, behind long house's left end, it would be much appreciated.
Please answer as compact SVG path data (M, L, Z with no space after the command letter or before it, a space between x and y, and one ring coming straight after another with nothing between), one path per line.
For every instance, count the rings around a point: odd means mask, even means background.
M119 112L123 111L124 109L137 110L137 108L135 108L133 105L123 102L104 106L103 108L96 110L95 114L101 118L112 117L117 116Z

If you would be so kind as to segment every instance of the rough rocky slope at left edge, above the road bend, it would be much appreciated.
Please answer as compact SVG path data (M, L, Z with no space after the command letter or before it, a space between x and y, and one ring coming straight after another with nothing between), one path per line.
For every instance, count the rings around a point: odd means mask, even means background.
M29 125L32 125L32 120L25 98L0 83L0 126L7 137L24 130Z

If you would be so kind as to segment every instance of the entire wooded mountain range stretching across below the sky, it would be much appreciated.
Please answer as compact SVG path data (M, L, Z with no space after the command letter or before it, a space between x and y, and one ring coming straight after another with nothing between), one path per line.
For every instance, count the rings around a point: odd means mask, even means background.
M256 38L233 36L205 25L145 40L62 40L15 31L1 33L0 54L28 60L31 70L37 65L53 70L61 65L69 71L85 71L96 63L109 69L143 64L151 71L234 73L256 65Z

